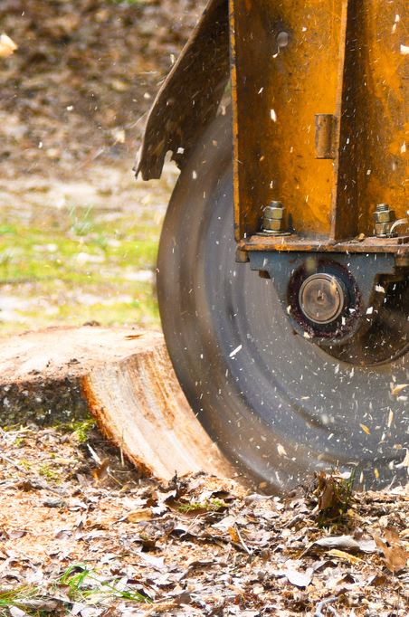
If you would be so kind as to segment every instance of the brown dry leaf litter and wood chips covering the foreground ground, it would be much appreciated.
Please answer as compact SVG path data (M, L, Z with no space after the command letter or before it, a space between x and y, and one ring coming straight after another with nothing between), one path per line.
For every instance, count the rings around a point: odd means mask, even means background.
M407 614L407 487L353 492L336 470L281 497L160 482L86 435L0 434L2 617Z

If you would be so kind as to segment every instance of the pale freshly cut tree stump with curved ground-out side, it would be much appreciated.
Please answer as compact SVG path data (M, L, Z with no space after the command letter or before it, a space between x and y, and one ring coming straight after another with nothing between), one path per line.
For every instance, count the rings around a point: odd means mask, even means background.
M143 473L232 477L185 399L159 332L51 327L0 337L0 424L84 417Z

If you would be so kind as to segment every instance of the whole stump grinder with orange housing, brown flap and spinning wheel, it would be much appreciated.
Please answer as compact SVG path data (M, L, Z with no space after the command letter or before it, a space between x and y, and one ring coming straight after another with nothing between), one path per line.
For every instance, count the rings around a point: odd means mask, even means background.
M206 431L268 489L406 482L409 4L210 0L137 172L169 150L159 307Z

